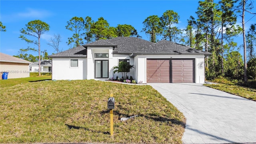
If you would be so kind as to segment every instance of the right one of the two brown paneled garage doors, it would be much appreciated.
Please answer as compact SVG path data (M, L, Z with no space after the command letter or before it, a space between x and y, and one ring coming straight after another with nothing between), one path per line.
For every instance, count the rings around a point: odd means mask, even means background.
M194 82L194 60L172 60L172 82Z

